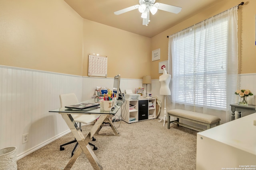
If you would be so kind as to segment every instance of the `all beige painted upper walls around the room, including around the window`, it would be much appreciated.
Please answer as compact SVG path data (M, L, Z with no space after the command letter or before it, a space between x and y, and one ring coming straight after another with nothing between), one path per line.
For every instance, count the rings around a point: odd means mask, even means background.
M167 35L240 3L219 0L150 39L82 19L63 0L1 0L0 65L87 76L88 54L98 53L108 56L108 77L150 74L156 79L158 63L168 59ZM256 73L255 8L256 2L250 0L238 10L243 74ZM151 52L158 48L161 59L152 62Z

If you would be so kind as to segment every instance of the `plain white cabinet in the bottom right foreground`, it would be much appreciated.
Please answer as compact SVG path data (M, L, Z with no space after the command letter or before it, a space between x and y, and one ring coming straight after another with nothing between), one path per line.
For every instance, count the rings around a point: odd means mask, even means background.
M256 113L197 133L196 170L256 169Z

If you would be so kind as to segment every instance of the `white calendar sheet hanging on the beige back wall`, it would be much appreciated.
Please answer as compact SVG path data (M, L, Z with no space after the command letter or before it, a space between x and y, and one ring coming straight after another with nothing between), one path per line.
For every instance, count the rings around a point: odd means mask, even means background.
M107 77L108 57L89 55L88 57L88 76Z

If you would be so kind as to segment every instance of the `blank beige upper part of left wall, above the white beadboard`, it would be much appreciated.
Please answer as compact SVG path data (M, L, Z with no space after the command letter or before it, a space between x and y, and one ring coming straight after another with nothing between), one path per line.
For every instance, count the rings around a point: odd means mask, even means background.
M0 1L0 65L82 75L83 20L63 0Z

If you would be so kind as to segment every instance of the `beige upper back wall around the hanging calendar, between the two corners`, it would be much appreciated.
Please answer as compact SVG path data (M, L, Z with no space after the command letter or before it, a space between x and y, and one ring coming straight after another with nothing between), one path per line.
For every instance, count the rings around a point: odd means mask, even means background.
M83 75L88 75L88 55L108 57L108 77L142 78L150 75L151 39L84 19Z

